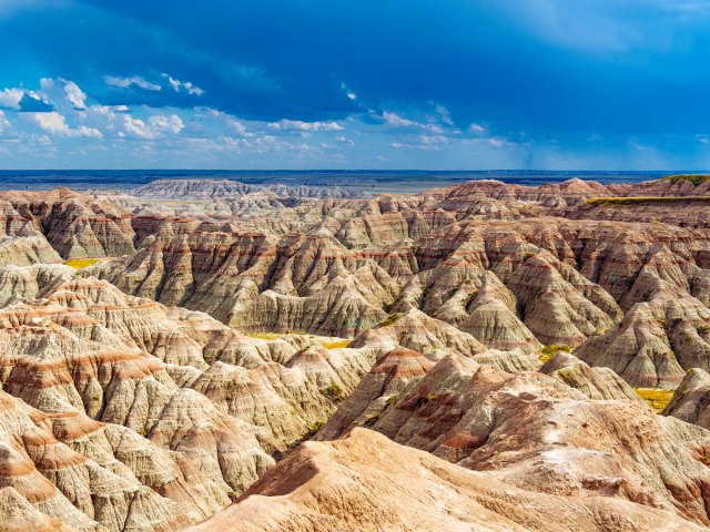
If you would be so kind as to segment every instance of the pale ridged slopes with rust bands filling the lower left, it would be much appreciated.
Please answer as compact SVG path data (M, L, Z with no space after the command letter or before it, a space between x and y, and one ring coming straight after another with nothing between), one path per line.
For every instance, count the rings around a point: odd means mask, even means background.
M79 530L211 515L372 364L307 338L251 339L65 266L0 277L0 485Z

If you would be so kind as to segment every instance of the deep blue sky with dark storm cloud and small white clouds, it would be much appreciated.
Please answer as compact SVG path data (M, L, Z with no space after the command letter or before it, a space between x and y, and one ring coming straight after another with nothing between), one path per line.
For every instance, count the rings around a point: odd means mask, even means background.
M710 168L710 0L0 0L2 168Z

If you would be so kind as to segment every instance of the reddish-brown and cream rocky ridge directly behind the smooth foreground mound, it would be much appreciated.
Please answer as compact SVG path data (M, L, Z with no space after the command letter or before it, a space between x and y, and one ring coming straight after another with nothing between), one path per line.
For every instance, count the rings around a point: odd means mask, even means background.
M552 359L542 371L396 349L315 439L367 427L520 489L618 498L710 524L710 432L659 419L609 370Z

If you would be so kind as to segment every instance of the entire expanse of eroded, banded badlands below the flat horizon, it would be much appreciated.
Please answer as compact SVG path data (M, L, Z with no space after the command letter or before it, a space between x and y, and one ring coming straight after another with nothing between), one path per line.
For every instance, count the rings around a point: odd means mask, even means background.
M710 526L710 177L0 193L0 531Z

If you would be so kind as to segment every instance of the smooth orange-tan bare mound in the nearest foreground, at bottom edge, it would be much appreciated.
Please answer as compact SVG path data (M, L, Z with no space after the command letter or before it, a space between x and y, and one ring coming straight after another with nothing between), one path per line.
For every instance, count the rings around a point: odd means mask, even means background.
M354 429L310 442L190 532L418 530L693 531L671 512L607 497L538 493Z

